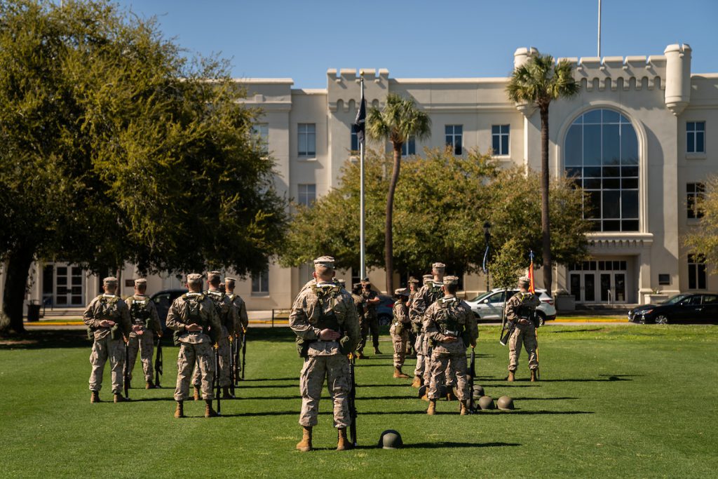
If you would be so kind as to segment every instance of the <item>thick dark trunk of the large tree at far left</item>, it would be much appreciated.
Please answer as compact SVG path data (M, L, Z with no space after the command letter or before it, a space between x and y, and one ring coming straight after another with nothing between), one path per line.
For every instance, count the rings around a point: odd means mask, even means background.
M22 303L25 300L27 272L32 264L33 253L32 248L24 247L19 251L11 251L7 256L3 313L9 319L9 324L2 325L2 333L25 332L22 324Z

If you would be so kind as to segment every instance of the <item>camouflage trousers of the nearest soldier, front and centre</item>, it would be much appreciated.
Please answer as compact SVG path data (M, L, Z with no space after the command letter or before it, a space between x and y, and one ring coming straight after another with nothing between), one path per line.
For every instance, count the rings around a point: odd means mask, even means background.
M351 378L349 360L345 355L309 356L299 375L299 393L302 394L302 412L299 424L305 427L317 425L319 400L325 378L327 389L334 403L334 427L349 427L349 393Z

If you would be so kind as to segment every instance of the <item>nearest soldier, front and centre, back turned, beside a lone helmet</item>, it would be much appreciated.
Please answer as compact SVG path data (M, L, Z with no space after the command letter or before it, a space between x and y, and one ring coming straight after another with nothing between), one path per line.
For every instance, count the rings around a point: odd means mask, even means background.
M299 376L302 441L297 444L297 450L312 450L312 427L317 424L325 378L334 403L337 450L345 450L352 447L347 438L347 427L352 420L347 355L359 342L359 318L350 294L332 282L334 259L331 256L314 260L313 276L316 284L299 292L289 315L289 327L297 335L297 349L304 358Z

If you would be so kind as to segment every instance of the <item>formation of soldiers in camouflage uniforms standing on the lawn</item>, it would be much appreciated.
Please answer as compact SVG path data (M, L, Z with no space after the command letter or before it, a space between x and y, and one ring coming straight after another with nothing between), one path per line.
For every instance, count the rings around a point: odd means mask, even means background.
M409 379L404 373L407 357L416 357L411 386L423 391L428 401L426 414L436 414L442 396L458 399L460 414L469 413L470 377L467 372L467 348L476 346L477 321L468 304L456 296L458 277L446 276L446 265L432 264L432 274L423 284L411 277L409 288L393 292L393 320L390 327L393 348L393 378ZM187 274L187 293L172 302L166 326L172 330L177 355L177 383L174 417L185 417L185 401L205 401L205 417L216 417L215 394L233 399L238 380L233 365L236 345L243 342L248 316L243 299L234 293L236 279L221 282L219 271ZM203 287L206 286L206 289ZM508 381L514 381L521 347L528 355L530 381L538 380L538 341L533 314L540 302L528 291L528 278L518 281L519 292L505 304L508 346ZM110 361L114 402L127 401L125 381L131 381L139 354L146 389L154 389L152 355L154 338L162 337L157 310L146 294L146 280L134 281L134 294L122 299L116 294L117 279L103 280L103 294L95 297L83 314L88 337L93 340L90 354L90 402L100 401L105 363ZM371 334L373 353L379 350L376 308L378 292L368 279L345 289L335 278L334 259L321 256L314 260L312 279L304 284L292 305L289 327L296 335L297 353L303 359L299 371L302 398L299 426L302 438L297 450L312 450L312 431L317 426L319 403L325 384L330 393L333 424L337 429L337 450L348 450L353 442L348 435L355 419L353 413L353 361L368 357L366 343ZM127 362L127 364L126 364ZM190 383L193 394L190 395ZM215 393L217 384L217 393ZM221 392L220 392L221 389Z

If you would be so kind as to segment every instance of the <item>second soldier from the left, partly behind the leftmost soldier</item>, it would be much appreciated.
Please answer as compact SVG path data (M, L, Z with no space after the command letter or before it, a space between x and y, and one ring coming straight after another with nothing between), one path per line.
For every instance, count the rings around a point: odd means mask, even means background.
M145 389L154 389L152 375L152 353L154 352L154 335L158 338L162 337L162 324L159 322L157 308L151 302L149 296L145 294L147 290L147 280L144 278L135 279L135 293L125 299L127 308L130 312L132 324L140 327L137 332L130 333L130 339L127 343L129 348L129 379L132 380L132 371L134 371L137 353L140 353L142 361L142 370L144 371ZM154 335L153 335L154 332Z

